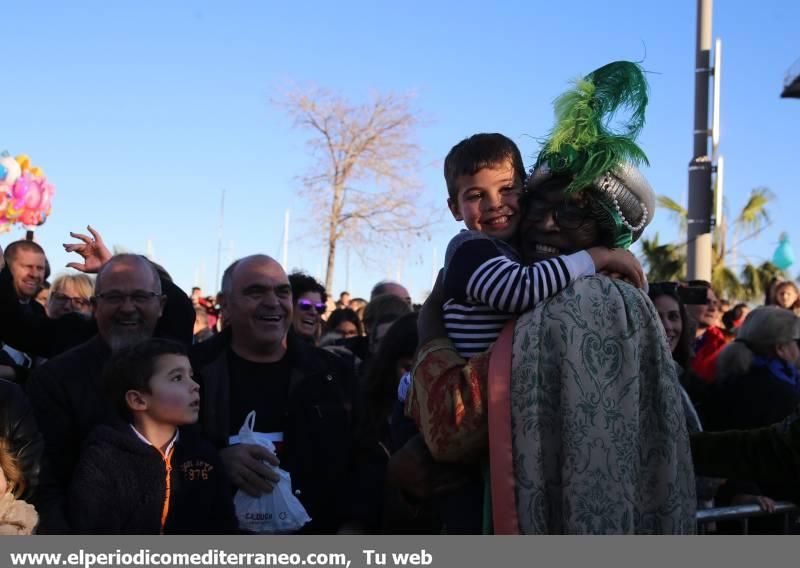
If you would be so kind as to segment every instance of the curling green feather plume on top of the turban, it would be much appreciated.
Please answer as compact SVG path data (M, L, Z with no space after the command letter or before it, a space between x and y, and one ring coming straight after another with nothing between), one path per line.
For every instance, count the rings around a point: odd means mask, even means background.
M555 101L556 125L539 153L537 166L571 174L567 193L584 189L622 162L648 164L635 139L644 126L647 80L642 68L615 61L575 81L575 88ZM629 115L616 129L619 111Z

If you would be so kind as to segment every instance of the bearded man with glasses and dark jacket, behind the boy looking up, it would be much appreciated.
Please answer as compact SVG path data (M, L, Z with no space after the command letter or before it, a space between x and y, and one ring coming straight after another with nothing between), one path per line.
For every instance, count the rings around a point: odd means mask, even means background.
M185 294L184 298L191 305ZM112 350L153 335L165 302L152 263L132 254L113 257L101 268L95 285L97 335L50 359L31 375L28 392L48 458L39 492L41 532L69 531L64 496L81 443L113 415L102 383L103 367Z

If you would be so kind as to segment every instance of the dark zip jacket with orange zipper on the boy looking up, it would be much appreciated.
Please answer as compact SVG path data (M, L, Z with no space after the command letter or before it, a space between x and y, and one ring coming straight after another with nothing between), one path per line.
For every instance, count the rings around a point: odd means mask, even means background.
M139 439L129 424L98 426L72 477L72 530L79 534L235 533L230 481L214 447L191 428L181 428L167 458Z

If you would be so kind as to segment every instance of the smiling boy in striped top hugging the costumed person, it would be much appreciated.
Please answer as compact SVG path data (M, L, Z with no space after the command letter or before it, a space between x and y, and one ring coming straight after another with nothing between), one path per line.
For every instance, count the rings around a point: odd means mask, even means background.
M596 271L633 277L638 266L625 251L586 251L520 263L512 241L522 215L524 166L519 148L502 134L475 134L444 161L447 205L469 231L447 247L442 306L445 329L462 357L486 351L505 323Z

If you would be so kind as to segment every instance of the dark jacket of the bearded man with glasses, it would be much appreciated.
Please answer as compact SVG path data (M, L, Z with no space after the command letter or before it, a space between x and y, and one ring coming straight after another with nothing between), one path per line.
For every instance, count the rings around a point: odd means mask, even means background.
M64 497L81 444L98 424L113 420L105 398L103 367L111 350L99 338L70 349L34 370L28 381L36 419L45 441L39 511L41 533L64 533Z

